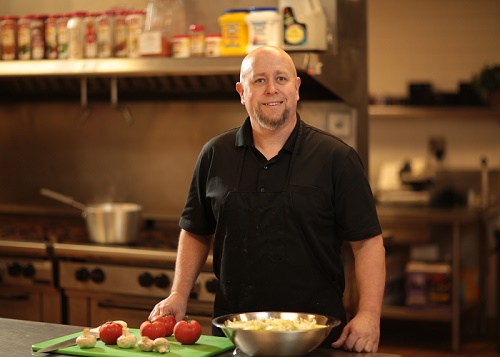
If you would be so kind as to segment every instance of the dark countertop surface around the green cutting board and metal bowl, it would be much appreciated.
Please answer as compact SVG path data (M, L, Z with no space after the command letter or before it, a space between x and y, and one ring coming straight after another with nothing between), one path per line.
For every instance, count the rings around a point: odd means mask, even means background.
M31 345L37 342L50 340L81 331L82 327L51 324L45 322L33 322L23 320L12 320L0 318L0 344L3 346L2 353L10 357L32 356ZM41 354L42 355L42 354ZM62 356L51 354L50 356ZM233 351L228 351L219 356L233 356ZM236 356L246 356L238 353ZM334 351L329 349L317 349L308 356L311 357L398 357L385 353L350 353L344 351Z

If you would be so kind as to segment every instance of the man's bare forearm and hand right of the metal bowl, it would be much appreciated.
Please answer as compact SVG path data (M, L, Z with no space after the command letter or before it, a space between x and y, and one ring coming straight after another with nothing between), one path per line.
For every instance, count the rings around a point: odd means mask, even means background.
M334 348L377 352L385 288L385 248L382 236L351 242L359 291L356 316L346 325Z

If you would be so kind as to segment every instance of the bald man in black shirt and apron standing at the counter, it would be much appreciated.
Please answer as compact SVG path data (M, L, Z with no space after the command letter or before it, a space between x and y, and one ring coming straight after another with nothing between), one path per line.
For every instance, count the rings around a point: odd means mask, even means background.
M296 311L338 317L326 343L376 352L385 250L373 195L356 152L300 120L300 78L288 54L259 47L236 90L249 117L210 140L180 220L171 294L151 311L184 317L213 239L220 289L214 316ZM355 257L360 295L347 323L341 246ZM219 334L214 329L214 334Z

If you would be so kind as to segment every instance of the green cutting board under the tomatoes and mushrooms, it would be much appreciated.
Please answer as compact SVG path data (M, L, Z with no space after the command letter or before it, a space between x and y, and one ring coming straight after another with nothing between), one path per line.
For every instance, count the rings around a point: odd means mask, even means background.
M139 341L140 332L138 329L130 329ZM77 337L81 335L82 332L73 333L71 335L54 338L52 340L35 343L31 346L33 351L38 351L46 346L53 345L58 342L68 340L72 337ZM168 357L209 357L215 356L222 352L231 350L234 348L231 340L225 337L215 337L215 336L205 336L202 335L200 339L194 345L182 345L177 342L177 340L171 336L167 338L170 341L170 352L166 354L159 354L156 352L144 352L136 345L134 348L120 348L117 345L106 345L102 341L97 341L93 348L80 348L78 346L71 346L66 348L61 348L57 350L57 353L72 355L72 356L116 356L116 357L155 357L155 356L168 356Z

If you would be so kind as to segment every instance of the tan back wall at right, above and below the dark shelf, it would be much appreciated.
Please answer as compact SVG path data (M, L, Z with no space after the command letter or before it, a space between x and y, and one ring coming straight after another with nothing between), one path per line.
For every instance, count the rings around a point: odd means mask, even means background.
M500 64L498 0L368 1L368 83L378 101L405 98L410 82L456 92L484 65ZM384 161L424 157L431 136L447 142L445 164L479 167L486 155L500 167L500 115L440 115L370 120L370 178Z

